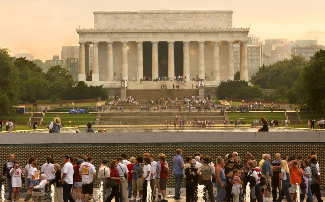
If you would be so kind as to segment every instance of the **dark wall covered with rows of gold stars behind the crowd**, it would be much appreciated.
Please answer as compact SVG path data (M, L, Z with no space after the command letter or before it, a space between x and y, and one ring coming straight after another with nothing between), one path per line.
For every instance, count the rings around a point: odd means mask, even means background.
M271 133L269 133L271 134ZM12 134L13 136L16 136ZM106 134L107 139L110 139L110 134ZM177 133L174 133L177 135ZM245 135L244 135L245 136ZM310 136L309 136L310 137ZM15 141L15 137L11 137L12 141ZM201 136L201 133L197 133L196 139L200 141L200 138L207 138L207 136ZM174 187L175 181L173 178L173 170L171 168L171 160L175 156L176 149L182 150L182 157L185 159L186 156L194 157L196 152L200 152L201 155L210 155L214 159L217 156L225 156L226 154L232 153L234 151L238 152L240 159L244 158L246 152L250 152L253 156L255 156L256 160L261 160L261 156L264 153L268 153L272 156L272 160L274 160L274 154L280 153L281 156L287 155L297 155L302 154L304 159L306 156L310 154L312 151L316 151L318 154L318 162L320 164L320 173L325 173L325 160L323 157L325 151L325 143L324 142L238 142L241 140L241 133L238 133L237 139L231 138L229 141L233 141L237 143L224 142L224 143L182 143L182 142L169 142L169 143L150 143L150 139L147 141L143 141L145 143L60 143L55 144L51 143L49 139L38 138L33 141L35 144L2 144L0 142L0 162L2 164L8 159L9 154L14 154L15 159L19 161L19 163L24 168L27 164L27 159L29 156L35 156L38 158L38 163L43 165L45 163L45 157L47 155L52 155L56 163L59 163L61 166L63 165L62 156L63 155L72 155L77 157L78 155L92 155L94 156L94 165L98 169L101 159L107 158L109 162L116 157L120 156L121 153L127 154L127 159L130 157L136 157L137 155L143 155L144 153L152 153L154 154L154 160L157 161L158 154L164 153L166 155L166 159L170 169L170 175L168 179L168 187ZM294 137L293 137L294 138ZM311 137L312 138L312 137ZM66 139L69 139L66 137ZM211 138L211 141L214 139ZM50 142L38 144L37 142ZM166 139L165 142L167 142ZM180 139L181 141L181 139ZM261 139L263 141L263 139ZM69 141L67 141L69 142ZM163 141L162 141L163 142ZM96 181L95 187L98 187L98 181ZM184 184L183 184L184 185ZM26 187L26 183L22 188Z

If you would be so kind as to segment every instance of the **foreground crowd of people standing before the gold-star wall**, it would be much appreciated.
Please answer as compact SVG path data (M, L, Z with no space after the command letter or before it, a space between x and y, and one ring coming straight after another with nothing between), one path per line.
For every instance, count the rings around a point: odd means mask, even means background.
M193 157L194 156L194 157ZM321 175L317 162L317 153L311 152L304 159L303 155L283 156L276 153L274 157L263 154L262 159L246 152L241 160L237 152L218 156L216 160L200 152L193 156L182 157L182 151L176 150L171 160L172 175L166 156L144 153L127 160L122 153L116 160L109 162L102 159L96 170L92 156L80 155L62 156L63 166L56 163L52 155L48 155L45 163L40 166L37 157L30 156L24 167L10 154L4 163L0 182L7 183L9 200L18 201L19 189L27 180L27 195L25 201L31 198L32 190L51 192L54 185L56 202L83 202L93 199L94 182L102 182L103 188L98 195L103 201L161 201L166 202L168 177L175 178L175 195L169 195L175 200L183 199L180 190L185 181L186 201L198 200L198 185L203 187L203 200L217 202L241 202L245 194L250 193L252 202L281 202L284 196L288 202L300 200L307 202L317 200L322 202L320 195ZM272 159L273 158L273 159ZM157 161L154 161L156 159ZM215 162L215 164L214 164ZM98 175L97 175L98 174ZM248 184L249 182L249 184ZM214 187L217 189L214 195ZM249 188L248 188L249 187ZM157 190L156 190L157 188ZM158 191L158 195L157 195ZM279 193L279 195L278 195ZM151 194L151 195L150 195ZM313 195L316 198L313 198Z

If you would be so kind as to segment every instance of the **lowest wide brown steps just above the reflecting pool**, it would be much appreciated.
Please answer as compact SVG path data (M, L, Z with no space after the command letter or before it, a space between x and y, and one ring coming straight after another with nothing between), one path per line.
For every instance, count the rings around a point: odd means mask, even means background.
M170 124L174 123L175 116L179 115L180 120L211 120L215 124L223 124L228 116L220 115L218 112L168 112L168 111L147 111L141 112L102 112L96 117L96 125L161 125L167 119ZM185 119L186 116L186 119ZM178 119L179 120L179 119Z

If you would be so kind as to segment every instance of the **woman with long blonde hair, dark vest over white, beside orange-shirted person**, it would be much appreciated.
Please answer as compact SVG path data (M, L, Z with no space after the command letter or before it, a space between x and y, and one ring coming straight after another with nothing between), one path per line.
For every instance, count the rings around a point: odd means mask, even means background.
M280 179L282 182L282 186L281 186L281 191L279 194L279 198L277 199L276 202L281 202L283 197L285 196L287 198L288 202L292 202L290 193L289 193L289 186L290 186L290 174L289 174L289 167L288 167L288 163L287 161L281 161L280 166L281 168L281 172L280 172Z

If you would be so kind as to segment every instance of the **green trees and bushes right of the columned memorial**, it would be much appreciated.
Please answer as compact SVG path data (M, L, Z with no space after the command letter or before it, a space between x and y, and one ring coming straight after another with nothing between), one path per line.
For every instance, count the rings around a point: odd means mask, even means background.
M251 76L248 82L239 80L239 72L235 80L222 81L217 89L219 99L225 97L256 100L285 101L298 104L301 108L313 111L325 110L325 50L315 53L310 60L301 55L292 55L290 60L284 59L274 64L263 65ZM262 89L275 89L270 96L263 94Z

